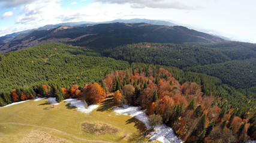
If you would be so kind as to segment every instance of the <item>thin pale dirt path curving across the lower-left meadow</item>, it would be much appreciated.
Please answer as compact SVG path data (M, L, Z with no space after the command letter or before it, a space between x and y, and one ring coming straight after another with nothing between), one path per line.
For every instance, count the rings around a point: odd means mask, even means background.
M80 138L80 137L75 136L75 135L71 135L70 133L63 132L63 131L58 130L58 129L49 128L49 127L44 127L44 126L31 125L31 124L25 124L25 123L12 123L12 122L9 122L9 123L0 123L0 125L7 125L7 124L9 124L9 125L22 125L22 126L33 126L33 127L37 127L37 128L44 128L44 129L55 130L56 132L60 132L60 133L63 133L63 134L65 134L65 135L71 136L72 138L79 139L79 140L82 140L82 141L87 141L87 142L112 143L112 142L102 141L102 140L84 139L84 138Z

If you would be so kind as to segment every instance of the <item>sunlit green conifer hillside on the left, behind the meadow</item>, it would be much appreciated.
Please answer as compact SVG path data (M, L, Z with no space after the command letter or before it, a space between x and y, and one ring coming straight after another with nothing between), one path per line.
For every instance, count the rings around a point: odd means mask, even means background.
M90 49L63 43L38 45L0 57L0 91L38 83L84 86L103 79L110 71L129 67L126 61L102 57Z

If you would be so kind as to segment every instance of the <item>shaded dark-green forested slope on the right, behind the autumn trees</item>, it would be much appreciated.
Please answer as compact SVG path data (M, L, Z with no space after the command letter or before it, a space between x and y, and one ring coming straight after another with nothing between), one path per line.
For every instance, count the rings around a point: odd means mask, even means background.
M251 43L138 43L106 49L102 54L129 63L160 64L209 74L237 89L256 85L256 45Z

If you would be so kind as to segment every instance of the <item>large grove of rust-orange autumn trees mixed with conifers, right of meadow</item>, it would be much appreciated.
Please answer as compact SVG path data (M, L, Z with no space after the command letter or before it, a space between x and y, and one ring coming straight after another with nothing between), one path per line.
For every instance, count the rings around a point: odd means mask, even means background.
M246 123L248 119L235 116L231 120L233 109L214 97L214 93L204 94L201 85L195 82L180 84L162 68L115 71L104 82L109 91L121 86L124 95L119 90L115 92L116 104L123 97L127 104L146 109L147 115L161 116L186 142L241 142L255 132L254 126ZM248 112L244 114L244 118L249 116Z

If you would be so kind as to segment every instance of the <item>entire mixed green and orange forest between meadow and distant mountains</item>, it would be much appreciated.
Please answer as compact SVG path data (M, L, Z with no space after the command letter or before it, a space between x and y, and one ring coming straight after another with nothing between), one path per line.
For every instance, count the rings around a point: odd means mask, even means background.
M161 116L186 142L244 142L256 139L255 52L240 42L138 43L101 52L41 44L0 55L0 105L37 96L95 104L115 92L116 105Z

